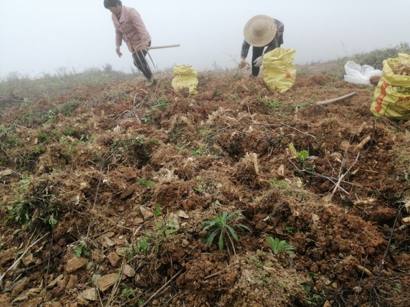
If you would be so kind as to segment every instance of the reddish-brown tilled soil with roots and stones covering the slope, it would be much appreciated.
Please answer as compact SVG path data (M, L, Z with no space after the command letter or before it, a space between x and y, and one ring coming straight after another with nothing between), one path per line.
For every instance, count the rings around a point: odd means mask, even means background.
M0 305L409 306L408 124L327 75L282 94L199 79L196 96L124 82L0 117ZM252 232L206 245L203 222L235 210Z

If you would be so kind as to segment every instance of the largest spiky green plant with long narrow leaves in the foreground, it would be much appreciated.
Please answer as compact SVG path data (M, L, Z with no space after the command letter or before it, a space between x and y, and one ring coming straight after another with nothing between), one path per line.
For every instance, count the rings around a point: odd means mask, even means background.
M229 251L228 244L226 244L226 238L228 238L232 244L233 251L235 252L235 246L232 242L232 238L238 242L238 235L235 230L248 230L251 232L247 226L235 223L236 221L244 220L245 217L240 215L240 213L241 210L237 210L229 214L227 211L223 211L219 213L214 220L204 222L204 227L202 230L208 232L205 242L210 246L215 237L219 236L218 249L222 250L223 247L227 245Z

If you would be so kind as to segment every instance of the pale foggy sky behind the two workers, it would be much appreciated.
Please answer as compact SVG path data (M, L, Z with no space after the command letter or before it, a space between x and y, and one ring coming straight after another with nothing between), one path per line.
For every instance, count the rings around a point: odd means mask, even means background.
M130 72L131 54L123 42L115 53L111 13L103 0L0 0L0 77L18 71L35 76L58 67L81 71L113 64ZM284 24L282 47L295 48L297 63L329 60L409 41L409 0L123 0L135 8L152 36L159 69L190 64L234 67L243 26L257 14ZM251 57L251 52L248 56Z

